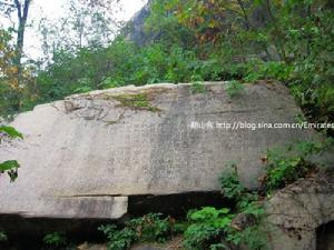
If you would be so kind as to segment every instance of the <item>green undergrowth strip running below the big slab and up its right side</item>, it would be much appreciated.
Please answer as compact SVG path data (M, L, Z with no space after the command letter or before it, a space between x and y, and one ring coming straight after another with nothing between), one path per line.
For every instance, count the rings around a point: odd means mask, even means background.
M178 233L183 234L186 250L237 249L240 246L249 250L268 249L264 200L297 179L315 174L318 167L310 162L310 157L322 153L332 144L328 139L269 150L263 159L265 173L259 178L261 188L256 191L240 183L237 166L230 163L219 182L224 197L235 203L234 208L190 210L186 221L178 223L170 217L149 213L129 220L124 228L108 224L99 230L107 236L109 250L129 249L135 242L165 242Z

